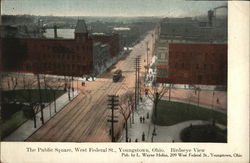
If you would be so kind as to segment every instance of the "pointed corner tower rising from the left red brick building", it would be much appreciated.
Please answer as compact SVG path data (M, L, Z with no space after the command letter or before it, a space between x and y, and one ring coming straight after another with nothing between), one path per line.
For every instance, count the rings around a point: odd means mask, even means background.
M85 41L88 39L88 30L84 20L78 20L75 28L75 40Z

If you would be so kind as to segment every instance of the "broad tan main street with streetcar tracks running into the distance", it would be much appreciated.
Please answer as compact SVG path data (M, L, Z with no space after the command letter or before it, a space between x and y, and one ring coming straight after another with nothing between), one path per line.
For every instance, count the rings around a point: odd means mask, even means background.
M113 66L110 72L103 74L95 82L86 82L74 86L81 90L80 95L69 103L56 116L31 135L27 141L48 142L109 142L110 123L107 122L110 109L107 108L107 95L121 95L134 87L134 58L141 55L141 64L145 64L146 41L152 47L152 35L148 34L143 41L134 46L133 51ZM150 48L149 53L152 53ZM143 67L143 65L142 65ZM112 82L112 73L116 69L123 70L124 78L117 83ZM144 71L144 68L142 69ZM78 84L78 86L76 86ZM122 132L123 118L116 111L119 122L115 124L116 135Z

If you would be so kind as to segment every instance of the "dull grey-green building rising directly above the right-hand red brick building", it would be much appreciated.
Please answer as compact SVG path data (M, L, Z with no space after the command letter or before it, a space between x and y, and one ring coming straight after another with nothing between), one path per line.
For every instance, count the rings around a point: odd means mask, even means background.
M160 26L160 38L170 41L226 42L227 19L216 18L212 26L194 18L165 18Z

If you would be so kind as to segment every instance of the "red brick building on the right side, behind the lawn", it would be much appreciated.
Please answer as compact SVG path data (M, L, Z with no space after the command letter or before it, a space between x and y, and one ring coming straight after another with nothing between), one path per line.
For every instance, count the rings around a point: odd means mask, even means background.
M167 49L156 82L227 85L227 44L170 43Z

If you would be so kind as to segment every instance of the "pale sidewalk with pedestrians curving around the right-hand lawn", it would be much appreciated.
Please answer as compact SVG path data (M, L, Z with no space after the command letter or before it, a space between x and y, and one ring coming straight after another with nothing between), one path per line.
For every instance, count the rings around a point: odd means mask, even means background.
M178 123L172 126L158 126L155 125L156 135L152 136L154 130L154 124L151 122L151 115L152 115L152 108L153 102L144 97L143 101L139 104L138 109L134 112L134 123L131 119L128 120L128 138L131 139L131 142L135 142L137 139L138 142L142 141L142 134L145 134L145 141L144 142L182 142L180 139L180 132L189 127L190 124L192 125L202 125L208 124L207 121L202 120L191 120ZM209 108L209 107L208 107ZM218 111L218 110L216 110ZM146 118L147 112L149 112L149 119ZM144 116L145 121L144 123L140 123L140 117ZM218 127L225 129L226 127L223 125L216 124ZM126 142L126 131L123 131L122 137L120 139L121 142Z

